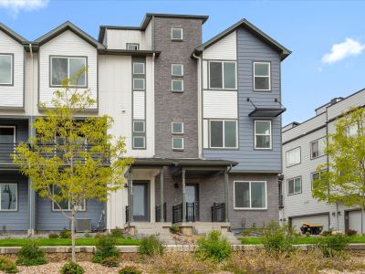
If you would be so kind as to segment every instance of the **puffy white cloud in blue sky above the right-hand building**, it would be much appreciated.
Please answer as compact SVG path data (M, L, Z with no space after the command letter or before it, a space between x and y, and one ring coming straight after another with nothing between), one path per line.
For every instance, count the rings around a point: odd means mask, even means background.
M346 38L344 42L334 44L330 52L322 57L322 62L333 64L344 58L360 55L364 49L365 44L361 44L359 41L351 38Z

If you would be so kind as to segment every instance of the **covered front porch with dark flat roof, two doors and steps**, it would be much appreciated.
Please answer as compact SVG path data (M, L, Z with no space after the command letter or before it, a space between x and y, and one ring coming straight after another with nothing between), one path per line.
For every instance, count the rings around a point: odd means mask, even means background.
M140 158L128 171L125 227L131 234L227 230L228 175L224 160Z

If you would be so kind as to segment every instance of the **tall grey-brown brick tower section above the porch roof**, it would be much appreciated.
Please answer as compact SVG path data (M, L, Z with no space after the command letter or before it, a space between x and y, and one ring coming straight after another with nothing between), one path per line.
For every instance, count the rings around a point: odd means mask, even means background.
M157 157L198 156L197 60L193 48L202 43L202 21L155 17L155 155ZM183 28L183 41L172 41L172 27ZM172 92L172 64L183 64L183 93ZM172 121L183 121L182 152L172 151Z

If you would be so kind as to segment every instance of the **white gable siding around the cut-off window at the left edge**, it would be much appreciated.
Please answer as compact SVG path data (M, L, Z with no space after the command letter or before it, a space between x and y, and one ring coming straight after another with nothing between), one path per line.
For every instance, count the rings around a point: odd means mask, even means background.
M14 54L13 86L0 86L0 108L23 108L24 47L0 31L0 53Z

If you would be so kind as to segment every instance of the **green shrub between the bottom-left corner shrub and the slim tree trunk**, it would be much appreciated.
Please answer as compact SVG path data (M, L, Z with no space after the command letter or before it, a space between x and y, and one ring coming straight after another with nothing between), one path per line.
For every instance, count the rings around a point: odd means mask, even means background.
M20 248L17 253L16 264L25 266L37 266L47 263L45 252L38 247L35 241L30 240L26 246Z

